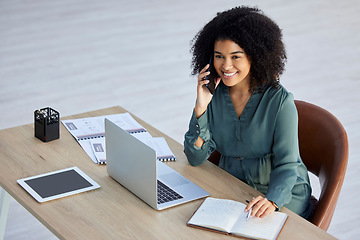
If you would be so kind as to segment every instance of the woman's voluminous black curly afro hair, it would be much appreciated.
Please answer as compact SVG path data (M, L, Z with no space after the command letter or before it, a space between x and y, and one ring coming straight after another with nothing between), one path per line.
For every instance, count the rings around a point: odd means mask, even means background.
M265 86L278 87L284 72L286 51L278 25L258 8L236 7L218 13L191 41L192 75L198 74L214 56L218 40L231 40L244 49L250 58L250 91ZM213 66L212 66L213 68ZM217 77L210 69L211 78Z

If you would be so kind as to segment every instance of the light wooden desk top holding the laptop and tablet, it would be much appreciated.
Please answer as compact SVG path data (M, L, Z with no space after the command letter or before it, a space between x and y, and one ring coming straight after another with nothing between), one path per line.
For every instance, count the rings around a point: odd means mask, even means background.
M78 114L66 119L125 112L121 107ZM177 157L168 165L195 182L212 197L245 202L258 192L210 162L191 167L183 146L141 119L152 136L164 136ZM94 164L61 125L60 139L43 143L34 137L33 124L0 131L0 184L16 201L60 239L231 239L186 226L202 200L156 211L111 179L106 166ZM77 166L101 188L38 203L16 180ZM289 219L279 239L334 239L287 209Z

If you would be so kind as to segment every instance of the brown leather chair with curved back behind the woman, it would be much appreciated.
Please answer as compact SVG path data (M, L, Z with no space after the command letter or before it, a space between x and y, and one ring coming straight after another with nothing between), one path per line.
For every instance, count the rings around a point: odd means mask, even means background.
M295 100L299 116L300 156L308 171L319 178L321 193L312 196L313 211L309 221L323 230L329 228L339 198L348 162L348 139L339 120L316 105ZM216 165L220 153L208 160Z

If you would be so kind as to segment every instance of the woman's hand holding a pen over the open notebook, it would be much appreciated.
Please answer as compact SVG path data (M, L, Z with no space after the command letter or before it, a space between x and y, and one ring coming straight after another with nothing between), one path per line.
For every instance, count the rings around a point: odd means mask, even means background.
M244 211L248 212L251 208L251 217L255 216L260 218L263 218L276 210L274 205L262 196L258 196L251 200Z

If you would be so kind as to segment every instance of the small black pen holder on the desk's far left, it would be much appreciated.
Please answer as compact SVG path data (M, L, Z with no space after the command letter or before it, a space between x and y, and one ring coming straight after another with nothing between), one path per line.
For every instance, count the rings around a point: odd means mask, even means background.
M60 114L52 108L42 108L34 112L35 137L50 142L60 137Z

